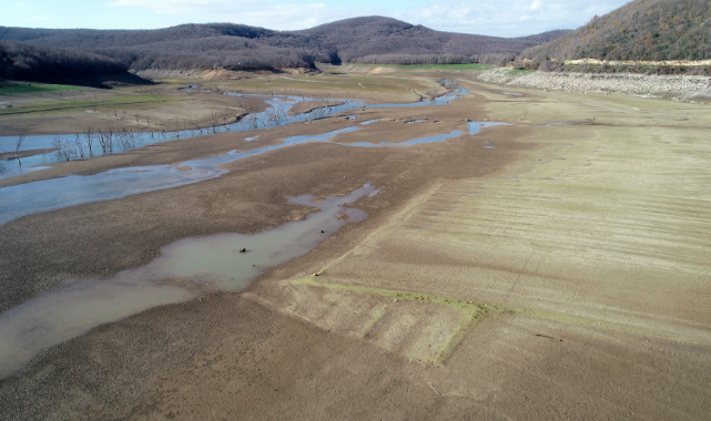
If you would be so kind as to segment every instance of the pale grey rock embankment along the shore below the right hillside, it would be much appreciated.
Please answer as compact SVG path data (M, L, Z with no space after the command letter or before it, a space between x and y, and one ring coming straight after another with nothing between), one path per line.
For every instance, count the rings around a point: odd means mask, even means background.
M711 78L708 76L512 72L497 69L483 73L479 79L509 86L565 92L660 95L684 101L711 99Z

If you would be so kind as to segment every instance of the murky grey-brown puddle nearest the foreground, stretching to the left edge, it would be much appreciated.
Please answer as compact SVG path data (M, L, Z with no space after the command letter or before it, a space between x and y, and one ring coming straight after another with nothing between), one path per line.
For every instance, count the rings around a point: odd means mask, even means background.
M317 203L311 195L295 197L293 203L321 210L254 235L185 238L164 247L144 267L108 280L77 280L0 314L0 378L21 370L43 349L100 325L204 291L244 290L267 269L305 255L348 222L363 220L367 214L342 205L377 192L366 184Z

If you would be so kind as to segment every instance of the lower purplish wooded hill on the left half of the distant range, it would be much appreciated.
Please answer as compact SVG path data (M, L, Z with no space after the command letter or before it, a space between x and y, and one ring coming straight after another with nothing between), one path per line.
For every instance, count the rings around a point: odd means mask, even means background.
M159 30L0 28L0 40L90 51L136 70L309 68L329 52L304 35L230 23Z

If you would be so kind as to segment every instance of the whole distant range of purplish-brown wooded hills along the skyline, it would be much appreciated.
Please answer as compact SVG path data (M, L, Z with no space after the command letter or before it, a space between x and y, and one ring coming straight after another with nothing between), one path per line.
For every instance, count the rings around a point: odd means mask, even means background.
M463 63L486 54L518 54L565 34L524 38L438 32L395 19L347 19L304 31L242 24L183 24L159 30L48 30L0 27L0 41L90 52L134 70L254 70L313 68L314 63Z

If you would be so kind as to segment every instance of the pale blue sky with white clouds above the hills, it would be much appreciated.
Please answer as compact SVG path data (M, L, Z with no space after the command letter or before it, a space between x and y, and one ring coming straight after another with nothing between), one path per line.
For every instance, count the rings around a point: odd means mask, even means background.
M156 29L231 22L297 30L379 14L450 32L519 37L576 29L629 0L1 0L0 25Z

